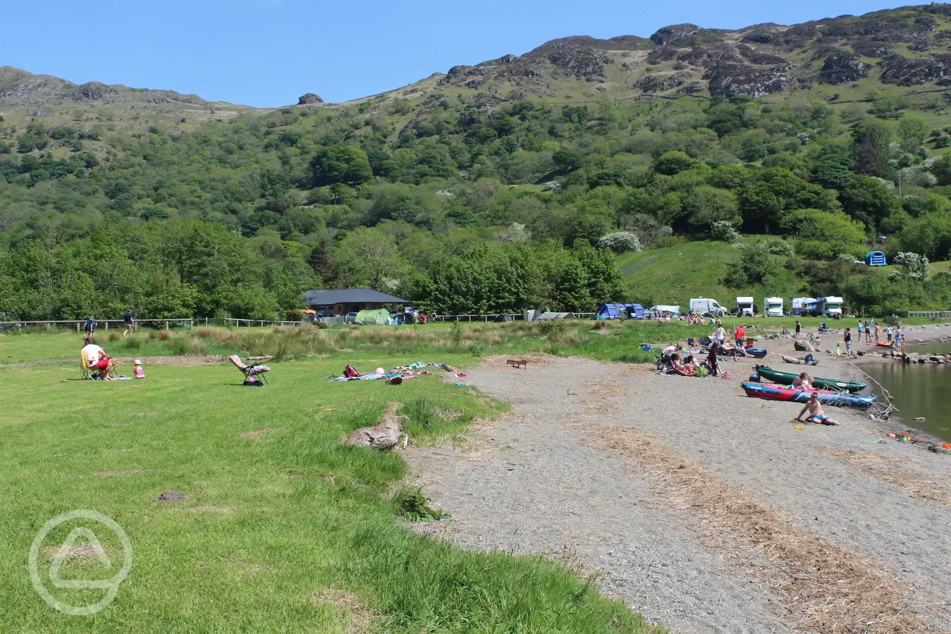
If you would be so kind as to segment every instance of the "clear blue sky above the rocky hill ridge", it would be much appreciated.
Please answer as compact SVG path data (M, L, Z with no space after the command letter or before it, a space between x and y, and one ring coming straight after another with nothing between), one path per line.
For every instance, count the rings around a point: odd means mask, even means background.
M736 29L861 14L907 2L801 0L7 0L0 66L77 84L193 92L247 106L326 101L410 84L456 64L567 35L640 35L691 22Z

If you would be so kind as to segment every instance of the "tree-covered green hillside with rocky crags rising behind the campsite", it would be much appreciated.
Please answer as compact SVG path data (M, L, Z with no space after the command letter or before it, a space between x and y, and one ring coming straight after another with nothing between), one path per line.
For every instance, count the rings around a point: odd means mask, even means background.
M321 285L450 314L587 311L629 294L610 261L632 240L622 265L733 232L795 249L791 269L732 279L757 297L947 309L941 267L851 261L880 235L890 258L949 259L949 60L951 5L932 4L568 37L267 111L3 67L0 313L266 318ZM732 248L631 271L633 293L736 295L708 268Z

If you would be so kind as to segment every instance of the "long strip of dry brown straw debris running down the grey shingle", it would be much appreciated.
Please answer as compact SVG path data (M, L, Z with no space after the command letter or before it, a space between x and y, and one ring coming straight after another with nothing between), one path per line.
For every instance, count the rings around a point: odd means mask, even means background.
M704 520L707 545L737 553L800 620L793 627L843 634L934 632L908 611L911 589L863 554L798 528L777 511L728 485L635 428L570 423L591 444L650 471L654 490Z

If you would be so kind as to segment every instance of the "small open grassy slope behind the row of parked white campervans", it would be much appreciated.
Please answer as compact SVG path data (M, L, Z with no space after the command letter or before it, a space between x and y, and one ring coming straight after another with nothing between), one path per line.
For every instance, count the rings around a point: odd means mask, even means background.
M749 237L745 241L756 240ZM786 258L774 256L783 262ZM631 283L634 297L650 304L688 306L689 298L714 298L732 308L737 297L752 296L762 306L763 298L790 298L801 292L802 280L785 268L767 284L730 289L723 284L726 264L737 259L737 249L725 242L704 240L665 249L625 253L617 258L621 272Z

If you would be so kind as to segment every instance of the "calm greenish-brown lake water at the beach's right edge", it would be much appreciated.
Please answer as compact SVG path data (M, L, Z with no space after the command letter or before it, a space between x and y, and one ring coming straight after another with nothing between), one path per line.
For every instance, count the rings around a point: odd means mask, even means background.
M909 346L908 351L951 353L951 344ZM862 369L892 395L902 418L902 429L917 428L951 441L951 366L885 361L882 365L864 365ZM915 420L919 416L924 417L924 422Z

